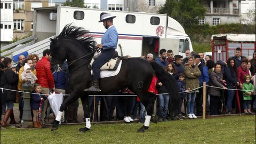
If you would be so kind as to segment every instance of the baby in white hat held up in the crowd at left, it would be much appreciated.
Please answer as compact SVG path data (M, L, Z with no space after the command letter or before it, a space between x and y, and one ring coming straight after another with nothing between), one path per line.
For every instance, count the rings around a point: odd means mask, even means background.
M35 74L31 71L31 68L28 65L28 63L25 63L23 69L24 71L21 73L22 81L27 81L27 82L30 82L31 85L34 85L37 78Z

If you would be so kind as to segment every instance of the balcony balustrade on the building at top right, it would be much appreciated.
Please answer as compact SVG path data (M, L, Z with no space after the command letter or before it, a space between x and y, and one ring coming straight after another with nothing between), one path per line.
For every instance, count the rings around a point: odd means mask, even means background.
M205 7L205 9L206 9L206 14L230 14L230 9L229 8L213 7L212 8L212 13L211 13L211 7ZM239 9L233 9L233 14L238 15L239 14Z

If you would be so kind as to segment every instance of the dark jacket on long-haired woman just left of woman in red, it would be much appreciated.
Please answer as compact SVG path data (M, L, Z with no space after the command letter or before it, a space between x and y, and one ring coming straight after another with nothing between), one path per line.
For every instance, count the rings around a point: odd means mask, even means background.
M238 82L236 77L236 71L233 71L232 73L230 67L227 66L225 67L225 75L228 89L235 89L235 86Z

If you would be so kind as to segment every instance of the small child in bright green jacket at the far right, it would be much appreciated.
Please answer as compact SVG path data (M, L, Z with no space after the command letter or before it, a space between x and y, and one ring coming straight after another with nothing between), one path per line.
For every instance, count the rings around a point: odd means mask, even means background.
M252 93L254 91L254 86L250 83L250 76L244 76L245 82L243 83L243 99L244 99L244 113L252 114L250 110L250 103L252 100Z

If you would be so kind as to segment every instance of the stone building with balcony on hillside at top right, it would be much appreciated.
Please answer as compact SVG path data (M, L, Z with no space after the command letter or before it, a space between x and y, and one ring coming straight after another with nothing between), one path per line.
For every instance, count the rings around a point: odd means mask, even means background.
M208 23L210 26L225 23L240 23L241 1L244 0L208 0L205 4L205 18L199 19L199 25Z

